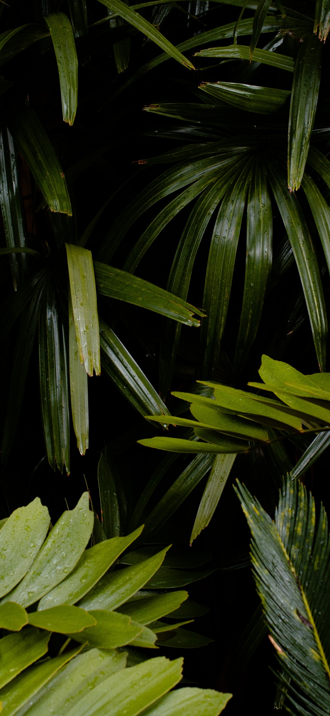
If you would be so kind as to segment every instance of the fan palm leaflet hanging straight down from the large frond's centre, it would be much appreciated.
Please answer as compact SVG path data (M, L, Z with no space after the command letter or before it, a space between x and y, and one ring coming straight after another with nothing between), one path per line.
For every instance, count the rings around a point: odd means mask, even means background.
M273 221L264 166L256 159L249 186L246 266L243 305L236 343L234 372L241 374L259 328L264 295L271 273Z

